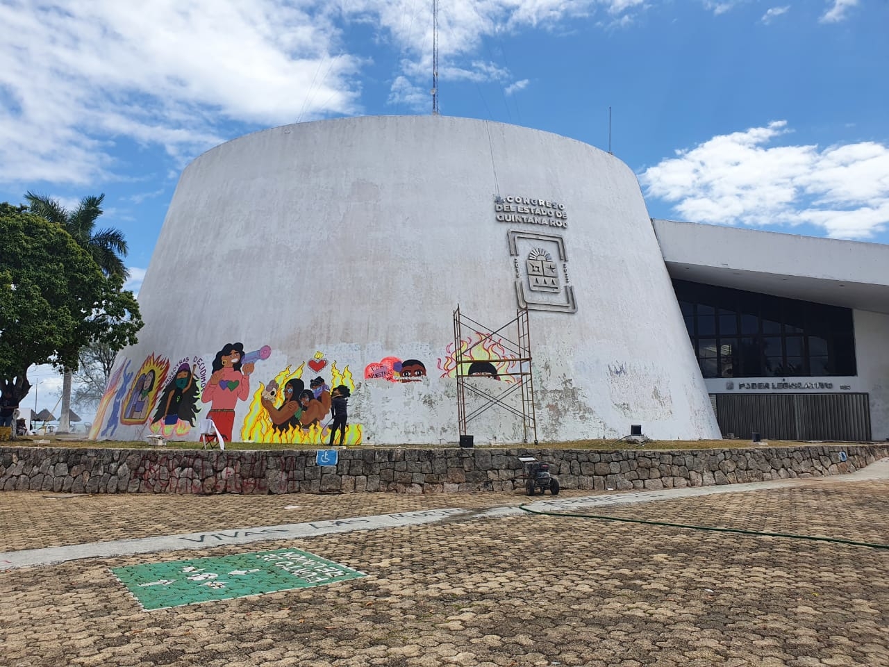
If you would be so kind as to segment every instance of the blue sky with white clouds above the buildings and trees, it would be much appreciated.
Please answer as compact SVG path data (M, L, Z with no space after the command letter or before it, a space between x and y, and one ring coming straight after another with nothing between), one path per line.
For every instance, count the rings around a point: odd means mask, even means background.
M429 113L431 7L0 0L0 201L104 192L138 290L204 150ZM439 26L443 115L607 150L610 107L655 218L889 243L887 0L440 0Z

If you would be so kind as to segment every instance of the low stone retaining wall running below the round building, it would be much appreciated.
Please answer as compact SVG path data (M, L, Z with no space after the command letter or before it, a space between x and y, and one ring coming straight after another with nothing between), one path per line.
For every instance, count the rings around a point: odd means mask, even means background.
M889 444L683 451L355 448L336 466L311 451L0 447L0 489L53 493L413 494L512 491L520 455L551 464L565 489L660 489L852 472ZM845 461L844 461L845 459Z

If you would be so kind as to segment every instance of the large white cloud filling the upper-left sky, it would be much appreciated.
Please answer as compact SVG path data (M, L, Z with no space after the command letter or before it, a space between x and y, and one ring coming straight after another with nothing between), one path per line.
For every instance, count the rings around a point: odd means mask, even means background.
M227 120L354 111L358 59L339 54L324 6L0 3L0 180L86 184L116 168L117 137L189 159Z

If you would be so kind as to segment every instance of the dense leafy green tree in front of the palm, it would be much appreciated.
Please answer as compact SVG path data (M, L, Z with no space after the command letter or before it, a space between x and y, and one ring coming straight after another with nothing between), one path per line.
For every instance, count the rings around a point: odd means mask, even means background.
M60 225L0 204L0 379L21 400L28 366L76 368L78 353L136 342L139 304Z

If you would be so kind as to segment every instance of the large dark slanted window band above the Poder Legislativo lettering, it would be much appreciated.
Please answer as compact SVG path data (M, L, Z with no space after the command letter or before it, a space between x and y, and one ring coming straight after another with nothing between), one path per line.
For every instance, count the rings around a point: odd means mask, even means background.
M852 310L673 281L704 377L854 375Z

